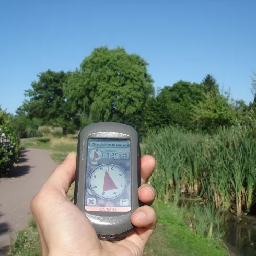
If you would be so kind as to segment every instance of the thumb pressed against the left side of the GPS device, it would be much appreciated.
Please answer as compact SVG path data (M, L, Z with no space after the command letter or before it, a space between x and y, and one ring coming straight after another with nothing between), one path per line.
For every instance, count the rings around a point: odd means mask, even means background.
M76 173L76 152L71 152L66 159L59 165L45 182L46 191L57 191L66 196L71 184L75 180Z

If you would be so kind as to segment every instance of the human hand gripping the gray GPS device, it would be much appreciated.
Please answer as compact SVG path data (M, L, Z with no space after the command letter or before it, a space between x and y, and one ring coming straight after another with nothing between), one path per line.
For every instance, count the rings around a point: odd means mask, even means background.
M155 159L141 158L141 187L139 199L151 204L155 189L147 184L155 168ZM67 192L75 179L76 153L70 153L58 166L31 202L31 211L39 231L42 255L140 256L156 227L156 214L147 205L131 215L137 228L124 240L99 240L86 215L67 199Z

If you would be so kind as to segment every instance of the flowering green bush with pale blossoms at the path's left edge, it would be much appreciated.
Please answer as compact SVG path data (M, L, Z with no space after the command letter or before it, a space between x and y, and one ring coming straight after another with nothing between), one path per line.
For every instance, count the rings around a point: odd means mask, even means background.
M20 140L8 114L0 109L0 176L17 160Z

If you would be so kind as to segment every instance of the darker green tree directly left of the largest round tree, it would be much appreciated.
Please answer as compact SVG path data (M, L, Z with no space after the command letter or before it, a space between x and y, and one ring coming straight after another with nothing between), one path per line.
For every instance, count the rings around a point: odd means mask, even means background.
M32 82L32 89L25 91L25 96L30 99L22 107L30 118L40 118L44 124L62 127L64 135L68 125L79 126L79 117L72 110L71 101L63 94L67 76L64 71L41 72L38 75L39 80ZM18 112L22 112L22 108Z

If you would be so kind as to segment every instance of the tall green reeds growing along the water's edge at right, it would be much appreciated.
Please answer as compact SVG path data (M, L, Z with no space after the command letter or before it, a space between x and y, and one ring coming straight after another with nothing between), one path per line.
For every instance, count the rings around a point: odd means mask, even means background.
M178 202L182 193L200 196L212 217L219 209L237 216L255 203L256 141L250 127L221 128L215 135L166 127L144 141L157 161L150 182L158 199Z

